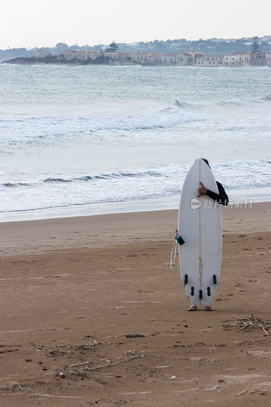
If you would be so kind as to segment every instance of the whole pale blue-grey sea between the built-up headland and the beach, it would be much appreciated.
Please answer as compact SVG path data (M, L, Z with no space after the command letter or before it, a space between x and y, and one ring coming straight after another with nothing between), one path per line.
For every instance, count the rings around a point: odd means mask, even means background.
M0 65L0 212L270 185L270 69Z

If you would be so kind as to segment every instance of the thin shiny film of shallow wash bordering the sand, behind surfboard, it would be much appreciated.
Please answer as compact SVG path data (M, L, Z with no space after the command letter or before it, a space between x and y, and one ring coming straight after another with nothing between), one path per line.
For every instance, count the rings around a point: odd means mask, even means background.
M271 188L246 188L228 191L233 202L253 203L271 201ZM177 209L179 195L142 200L79 203L77 205L37 208L20 211L0 212L0 223L35 219L66 218L74 216L93 216L113 213L145 212L155 210Z

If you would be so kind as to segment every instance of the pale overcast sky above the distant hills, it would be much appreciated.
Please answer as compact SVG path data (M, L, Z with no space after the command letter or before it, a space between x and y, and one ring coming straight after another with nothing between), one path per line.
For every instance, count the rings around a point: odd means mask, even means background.
M268 4L267 0L3 0L0 48L269 35Z

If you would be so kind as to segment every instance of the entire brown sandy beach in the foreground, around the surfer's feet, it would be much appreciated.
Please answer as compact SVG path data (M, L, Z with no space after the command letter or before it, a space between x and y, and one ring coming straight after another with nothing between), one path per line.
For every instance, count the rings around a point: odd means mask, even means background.
M237 317L270 319L268 211L223 209L214 312L169 268L176 210L1 223L0 404L267 405L269 336Z

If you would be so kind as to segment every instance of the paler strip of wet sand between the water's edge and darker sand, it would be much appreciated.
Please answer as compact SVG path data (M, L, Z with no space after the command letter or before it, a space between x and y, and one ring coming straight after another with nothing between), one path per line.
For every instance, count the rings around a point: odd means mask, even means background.
M223 207L223 235L268 232L270 209L271 202L257 202L247 209ZM171 209L3 222L0 256L135 242L172 245L177 218L177 209Z

